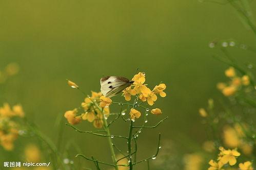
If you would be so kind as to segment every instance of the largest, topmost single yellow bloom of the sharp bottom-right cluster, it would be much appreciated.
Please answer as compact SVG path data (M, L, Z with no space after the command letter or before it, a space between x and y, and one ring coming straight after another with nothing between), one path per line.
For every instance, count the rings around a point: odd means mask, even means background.
M220 161L223 164L229 163L229 165L234 165L235 163L237 163L237 157L240 156L240 153L233 149L233 150L222 150L221 151L221 157L220 157Z

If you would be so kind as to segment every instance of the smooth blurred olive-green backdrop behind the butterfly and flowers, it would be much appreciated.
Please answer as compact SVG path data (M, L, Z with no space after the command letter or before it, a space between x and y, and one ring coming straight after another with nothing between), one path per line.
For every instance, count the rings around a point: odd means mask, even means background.
M251 2L251 7L255 5ZM21 67L15 78L0 85L0 102L21 103L28 119L56 141L56 118L80 106L84 99L78 90L67 86L66 79L90 94L90 90L100 90L103 75L131 79L139 68L146 72L150 88L160 82L167 85L167 97L154 105L163 115L150 115L148 124L165 115L169 119L157 129L144 131L138 157L155 153L158 132L163 142L176 141L180 152L189 153L186 142L201 145L207 139L198 108L206 106L209 98L221 97L215 85L226 80L227 65L211 57L219 50L209 48L208 43L228 38L255 44L251 31L228 5L198 1L0 1L0 68L10 62ZM231 49L230 53L241 62L245 58L256 61L251 52ZM113 101L124 99L116 96ZM73 140L83 154L110 160L105 139L78 134L65 122L60 125L64 127L63 145ZM78 127L93 129L88 122ZM127 127L119 121L111 131L127 134ZM121 142L117 140L126 150Z

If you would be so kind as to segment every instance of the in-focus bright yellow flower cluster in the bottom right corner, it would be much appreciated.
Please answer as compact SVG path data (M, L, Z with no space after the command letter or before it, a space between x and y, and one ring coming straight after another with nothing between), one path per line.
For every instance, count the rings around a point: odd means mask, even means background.
M225 164L229 164L230 166L233 166L237 163L237 157L239 157L241 154L237 151L237 149L233 150L225 150L223 147L219 148L220 153L218 157L218 161L210 160L209 165L210 167L208 170L217 170L217 169L222 169L222 167ZM239 167L241 170L252 170L251 162L247 161L244 163L240 163Z

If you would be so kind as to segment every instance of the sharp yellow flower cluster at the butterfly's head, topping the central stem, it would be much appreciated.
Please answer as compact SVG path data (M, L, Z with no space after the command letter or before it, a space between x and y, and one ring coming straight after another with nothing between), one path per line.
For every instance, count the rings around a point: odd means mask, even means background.
M139 72L138 74L134 75L132 81L134 81L133 85L123 90L123 96L125 97L126 101L131 100L131 95L138 95L141 101L147 101L148 104L152 106L157 100L156 94L159 94L162 98L166 96L166 93L164 92L166 85L162 83L155 86L153 90L150 90L150 88L144 84L146 79L143 72Z

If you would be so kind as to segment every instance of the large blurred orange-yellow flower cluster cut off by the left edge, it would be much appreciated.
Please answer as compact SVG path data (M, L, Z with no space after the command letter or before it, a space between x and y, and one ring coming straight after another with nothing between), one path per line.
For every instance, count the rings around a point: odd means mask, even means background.
M12 120L13 117L24 117L21 105L11 108L5 103L0 107L0 145L7 151L14 148L13 142L18 137L18 124Z

